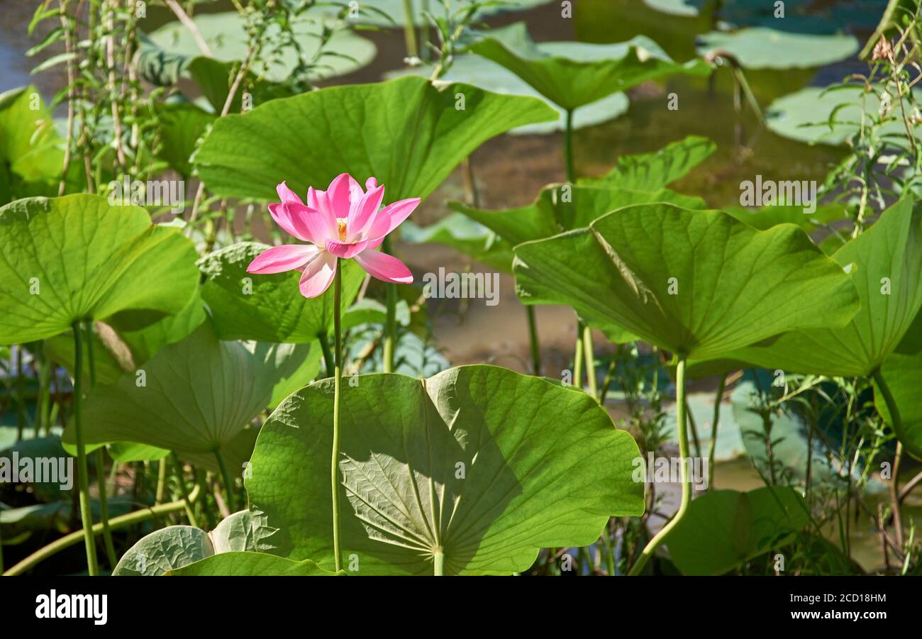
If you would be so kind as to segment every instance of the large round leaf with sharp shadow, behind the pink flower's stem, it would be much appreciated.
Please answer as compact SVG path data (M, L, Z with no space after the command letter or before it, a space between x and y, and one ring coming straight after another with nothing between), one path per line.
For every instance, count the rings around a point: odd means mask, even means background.
M432 574L439 549L446 574L510 574L644 511L637 444L585 393L493 366L358 379L338 470L342 555L359 574ZM325 381L264 425L246 479L259 550L333 565L332 423Z

